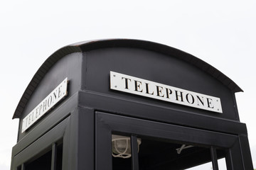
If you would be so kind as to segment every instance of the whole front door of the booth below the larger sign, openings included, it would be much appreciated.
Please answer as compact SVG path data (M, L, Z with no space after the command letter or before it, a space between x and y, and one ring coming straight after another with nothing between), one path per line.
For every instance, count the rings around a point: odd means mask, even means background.
M244 169L238 136L96 112L95 169Z

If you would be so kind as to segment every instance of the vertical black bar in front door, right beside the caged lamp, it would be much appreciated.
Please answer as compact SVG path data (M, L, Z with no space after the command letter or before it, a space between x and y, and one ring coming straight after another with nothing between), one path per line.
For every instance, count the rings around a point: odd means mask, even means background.
M132 170L139 170L139 157L138 157L138 142L137 137L132 135L131 137L132 146Z

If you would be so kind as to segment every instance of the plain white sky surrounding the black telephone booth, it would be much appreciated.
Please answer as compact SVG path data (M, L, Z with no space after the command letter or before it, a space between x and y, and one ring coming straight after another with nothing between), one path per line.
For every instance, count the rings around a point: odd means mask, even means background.
M60 47L134 38L195 55L233 79L256 168L256 1L0 2L0 169L10 169L18 120L12 116L38 68Z

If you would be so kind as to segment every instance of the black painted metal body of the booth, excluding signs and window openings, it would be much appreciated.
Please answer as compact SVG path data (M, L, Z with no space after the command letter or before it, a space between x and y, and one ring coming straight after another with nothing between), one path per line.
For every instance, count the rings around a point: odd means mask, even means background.
M112 91L110 71L218 97L223 113ZM22 119L65 77L68 96L21 133ZM61 142L63 169L112 169L112 131L130 135L133 147L137 135L164 137L212 148L215 169L217 157L223 155L228 169L252 169L246 125L240 123L235 102L238 91L242 89L214 67L166 45L120 39L63 47L38 69L18 103L13 118L19 118L20 125L11 169L23 169ZM225 152L218 155L215 148ZM207 162L208 153L210 149L190 154L187 164L179 162L175 168ZM132 166L138 169L133 154Z

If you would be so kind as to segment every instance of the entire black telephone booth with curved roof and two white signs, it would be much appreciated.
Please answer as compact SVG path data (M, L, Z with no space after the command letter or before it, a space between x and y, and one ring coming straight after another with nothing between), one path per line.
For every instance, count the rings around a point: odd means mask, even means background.
M143 40L68 45L18 103L11 169L252 169L231 79Z

